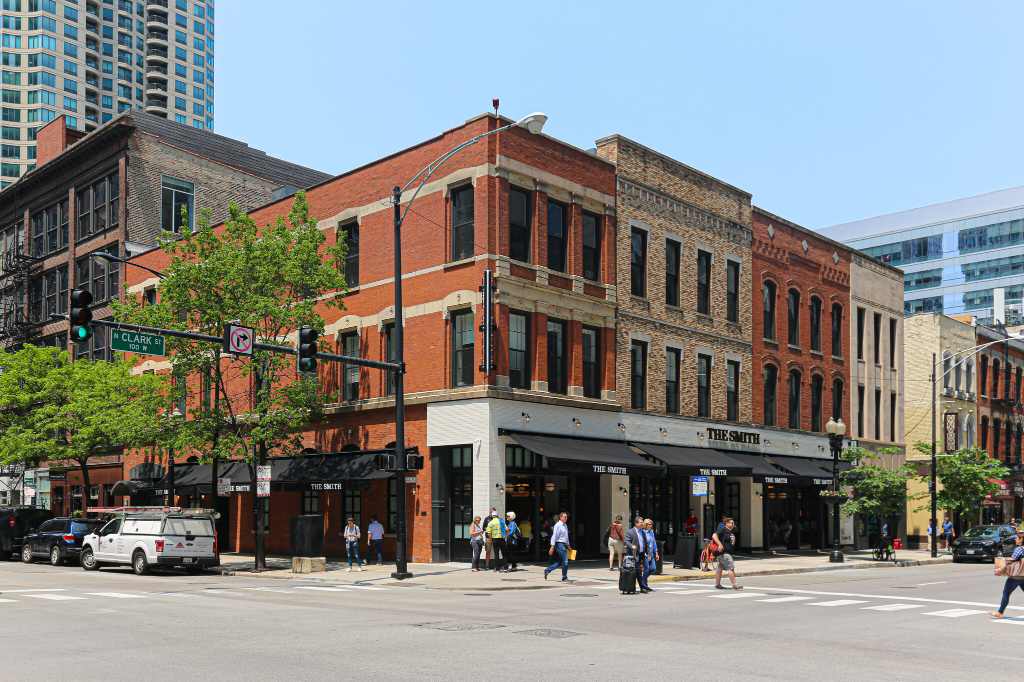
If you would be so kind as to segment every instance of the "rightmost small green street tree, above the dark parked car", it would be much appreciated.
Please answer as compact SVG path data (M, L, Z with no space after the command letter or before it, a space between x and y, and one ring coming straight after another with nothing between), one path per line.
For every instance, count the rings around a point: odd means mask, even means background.
M929 458L932 456L931 443L918 441L913 444L913 449ZM988 453L977 446L939 455L935 461L936 475L942 484L935 496L936 509L946 509L964 518L977 518L981 502L998 491L998 484L989 483L990 479L1004 479L1010 473L1010 469L1001 462L989 457ZM931 462L913 462L910 466L913 467L914 478L928 484L926 490L911 497L914 500L927 500L914 511L931 511Z

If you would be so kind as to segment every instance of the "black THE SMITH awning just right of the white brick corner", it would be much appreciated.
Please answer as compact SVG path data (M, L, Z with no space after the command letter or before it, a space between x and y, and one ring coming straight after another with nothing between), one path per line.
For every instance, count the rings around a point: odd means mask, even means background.
M572 473L649 476L665 471L665 467L647 461L626 443L617 441L584 441L525 434L509 434L509 437L527 450L547 457L549 466Z

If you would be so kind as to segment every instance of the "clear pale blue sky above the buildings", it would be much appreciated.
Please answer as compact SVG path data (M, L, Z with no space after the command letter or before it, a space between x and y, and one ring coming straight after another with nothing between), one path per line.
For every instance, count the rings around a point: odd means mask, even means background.
M1024 184L1022 7L219 0L217 132L341 173L500 97L826 227Z

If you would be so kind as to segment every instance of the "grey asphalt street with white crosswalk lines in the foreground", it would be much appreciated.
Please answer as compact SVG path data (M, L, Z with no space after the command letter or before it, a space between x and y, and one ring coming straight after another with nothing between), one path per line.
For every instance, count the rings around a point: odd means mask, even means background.
M966 680L1020 658L1024 592L1008 620L987 616L1002 583L991 564L940 564L629 596L596 581L487 593L9 561L0 650L10 680Z

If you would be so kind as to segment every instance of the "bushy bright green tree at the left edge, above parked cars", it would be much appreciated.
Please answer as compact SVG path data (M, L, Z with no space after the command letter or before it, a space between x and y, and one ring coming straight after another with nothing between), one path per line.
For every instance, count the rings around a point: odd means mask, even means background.
M131 369L127 362L70 362L53 347L0 354L0 463L74 461L88 500L92 457L154 437L163 383Z

